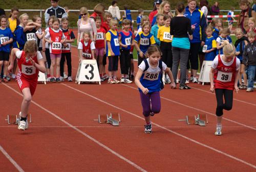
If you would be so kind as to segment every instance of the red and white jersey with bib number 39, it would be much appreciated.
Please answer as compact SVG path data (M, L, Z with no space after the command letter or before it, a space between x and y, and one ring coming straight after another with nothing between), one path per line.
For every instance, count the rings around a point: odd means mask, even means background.
M212 62L212 68L215 69L215 88L233 90L236 72L240 68L240 60L235 57L231 62L224 62L221 55L218 55Z

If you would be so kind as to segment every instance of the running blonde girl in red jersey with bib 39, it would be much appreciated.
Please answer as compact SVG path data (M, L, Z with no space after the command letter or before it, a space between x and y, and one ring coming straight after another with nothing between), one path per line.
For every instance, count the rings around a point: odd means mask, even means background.
M238 93L238 73L240 60L235 56L236 48L233 44L226 44L223 47L224 55L218 55L212 62L210 69L210 91L216 94L217 99L217 128L215 135L222 135L223 109L231 110L233 102L233 90ZM223 103L223 96L225 103Z

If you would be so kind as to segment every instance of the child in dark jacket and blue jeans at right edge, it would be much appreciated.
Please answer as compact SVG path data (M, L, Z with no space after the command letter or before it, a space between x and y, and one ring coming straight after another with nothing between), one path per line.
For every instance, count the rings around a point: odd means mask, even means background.
M255 36L256 34L252 31L250 31L248 34L248 44L244 48L243 53L243 63L245 66L248 66L248 87L246 89L247 92L253 91L253 81L255 77L256 72L256 42L255 42Z

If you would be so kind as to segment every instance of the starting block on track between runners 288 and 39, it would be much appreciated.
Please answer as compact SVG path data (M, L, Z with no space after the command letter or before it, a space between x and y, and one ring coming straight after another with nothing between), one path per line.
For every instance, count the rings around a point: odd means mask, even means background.
M179 119L179 121L186 121L188 125L206 126L208 124L206 114L186 115L186 119Z

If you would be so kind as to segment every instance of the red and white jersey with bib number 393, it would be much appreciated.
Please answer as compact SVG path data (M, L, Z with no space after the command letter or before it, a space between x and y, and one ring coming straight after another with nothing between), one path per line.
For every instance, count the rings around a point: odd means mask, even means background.
M50 45L50 53L52 54L61 54L61 39L65 38L65 35L61 30L54 30L54 29L49 29L49 32L46 34L45 38L51 37L51 40L53 43Z

